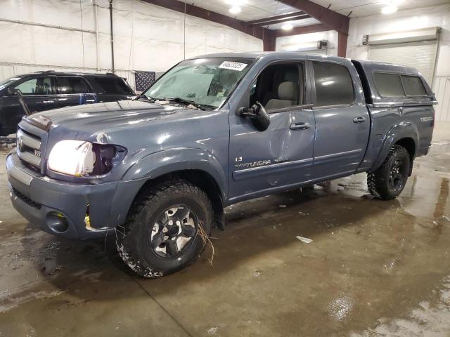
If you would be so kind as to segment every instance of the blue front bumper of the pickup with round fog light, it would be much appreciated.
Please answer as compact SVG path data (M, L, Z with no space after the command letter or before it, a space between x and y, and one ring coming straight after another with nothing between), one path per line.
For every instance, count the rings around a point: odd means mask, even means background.
M141 186L136 181L82 185L54 180L28 169L15 151L6 158L6 169L14 208L41 230L70 239L103 237L122 224ZM61 218L63 225L55 225Z

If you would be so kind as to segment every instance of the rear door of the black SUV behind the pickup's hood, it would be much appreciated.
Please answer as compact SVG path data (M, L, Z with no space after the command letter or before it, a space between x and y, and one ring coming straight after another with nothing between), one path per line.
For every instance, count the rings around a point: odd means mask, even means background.
M58 76L55 79L58 107L96 103L96 95L83 77Z

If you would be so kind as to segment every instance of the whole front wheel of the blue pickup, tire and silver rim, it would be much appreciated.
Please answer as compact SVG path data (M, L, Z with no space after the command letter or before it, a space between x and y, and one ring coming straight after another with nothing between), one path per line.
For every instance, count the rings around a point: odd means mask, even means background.
M157 278L197 260L211 232L212 204L186 180L168 180L143 192L116 229L117 251L134 272Z

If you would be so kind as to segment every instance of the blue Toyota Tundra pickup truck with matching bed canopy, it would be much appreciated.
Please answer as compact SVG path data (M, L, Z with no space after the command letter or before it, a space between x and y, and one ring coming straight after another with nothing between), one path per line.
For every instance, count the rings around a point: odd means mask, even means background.
M135 100L24 117L6 159L13 206L51 234L115 231L132 270L193 263L225 206L368 173L404 189L436 103L412 67L300 53L179 62Z

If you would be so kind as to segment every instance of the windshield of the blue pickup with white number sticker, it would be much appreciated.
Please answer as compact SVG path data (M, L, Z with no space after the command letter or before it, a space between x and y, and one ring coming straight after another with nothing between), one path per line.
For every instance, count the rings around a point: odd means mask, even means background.
M149 100L174 100L212 110L220 107L250 69L248 58L198 58L180 62L150 86Z

